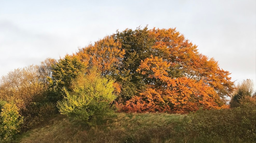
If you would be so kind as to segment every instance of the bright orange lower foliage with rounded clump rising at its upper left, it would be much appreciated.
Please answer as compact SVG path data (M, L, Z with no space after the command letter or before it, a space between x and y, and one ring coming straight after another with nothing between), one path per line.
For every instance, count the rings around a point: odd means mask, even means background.
M222 101L214 87L205 84L202 79L169 77L167 72L169 66L170 63L152 55L142 61L137 71L153 79L153 82L146 91L127 101L123 110L188 113L197 111L200 107L220 108Z

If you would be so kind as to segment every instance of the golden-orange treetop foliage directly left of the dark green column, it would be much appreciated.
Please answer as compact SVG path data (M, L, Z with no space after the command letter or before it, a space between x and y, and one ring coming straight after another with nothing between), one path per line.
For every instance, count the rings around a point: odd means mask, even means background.
M116 72L124 50L121 50L121 43L116 42L113 36L106 36L96 41L94 45L80 49L77 55L82 62L88 63L89 68L96 66L102 75L109 75Z

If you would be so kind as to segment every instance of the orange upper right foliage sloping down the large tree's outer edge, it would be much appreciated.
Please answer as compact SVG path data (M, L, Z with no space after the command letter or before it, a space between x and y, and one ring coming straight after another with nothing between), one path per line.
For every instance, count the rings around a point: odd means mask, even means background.
M156 38L153 48L163 53L160 57L170 64L171 70L182 74L177 77L203 80L205 84L215 89L223 102L225 96L231 97L234 82L231 81L228 71L219 68L217 61L199 54L197 46L185 39L175 28L154 28L150 32Z

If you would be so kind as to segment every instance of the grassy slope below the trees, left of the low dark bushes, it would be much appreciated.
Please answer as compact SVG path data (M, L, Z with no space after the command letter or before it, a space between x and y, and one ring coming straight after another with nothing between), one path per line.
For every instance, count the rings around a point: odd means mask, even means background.
M165 113L115 113L88 125L58 116L44 127L23 133L18 142L184 142L185 115Z

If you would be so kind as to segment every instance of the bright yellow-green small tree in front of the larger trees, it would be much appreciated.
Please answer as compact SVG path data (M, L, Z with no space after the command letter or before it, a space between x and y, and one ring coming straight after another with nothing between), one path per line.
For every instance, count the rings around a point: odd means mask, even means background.
M100 76L93 68L88 74L80 74L73 82L73 91L64 89L66 96L57 103L59 112L88 122L110 112L110 103L116 98L113 80Z

